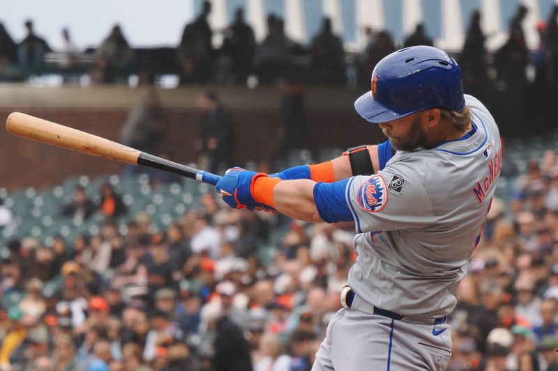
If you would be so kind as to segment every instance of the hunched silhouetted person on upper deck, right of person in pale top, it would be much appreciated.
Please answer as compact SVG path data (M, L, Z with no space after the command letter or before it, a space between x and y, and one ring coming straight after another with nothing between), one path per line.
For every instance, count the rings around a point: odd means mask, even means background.
M110 34L96 50L95 56L96 68L91 76L93 81L112 83L128 78L133 63L133 49L119 24L112 27Z

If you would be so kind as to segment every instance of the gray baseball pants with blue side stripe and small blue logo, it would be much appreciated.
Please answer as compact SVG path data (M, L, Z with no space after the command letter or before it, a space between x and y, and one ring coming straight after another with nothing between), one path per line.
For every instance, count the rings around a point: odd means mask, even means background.
M329 322L312 371L445 370L450 357L448 324L414 324L342 308Z

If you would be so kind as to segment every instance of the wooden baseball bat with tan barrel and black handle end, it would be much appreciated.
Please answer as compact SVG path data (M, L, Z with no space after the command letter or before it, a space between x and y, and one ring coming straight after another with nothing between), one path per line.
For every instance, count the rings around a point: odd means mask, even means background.
M42 118L25 113L10 113L6 120L6 129L11 134L32 139L41 143L75 150L86 155L104 157L126 164L148 166L195 179L198 182L217 184L221 177L196 168L190 168L176 162L162 159L149 153L135 150L120 143L109 141L93 134L82 132L71 127L52 123Z

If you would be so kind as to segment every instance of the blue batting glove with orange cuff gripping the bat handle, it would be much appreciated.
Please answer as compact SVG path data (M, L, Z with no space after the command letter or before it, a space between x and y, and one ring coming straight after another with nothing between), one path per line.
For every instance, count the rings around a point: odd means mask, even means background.
M234 209L248 207L249 210L253 210L259 206L250 191L254 175L257 175L255 171L230 168L215 186L219 197Z

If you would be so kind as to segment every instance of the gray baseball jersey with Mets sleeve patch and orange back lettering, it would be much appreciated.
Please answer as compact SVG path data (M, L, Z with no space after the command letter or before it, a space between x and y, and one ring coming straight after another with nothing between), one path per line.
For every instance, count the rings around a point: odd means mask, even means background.
M432 318L455 307L502 167L495 120L476 98L465 102L474 125L467 135L398 151L382 171L347 184L358 232L348 283L372 306Z

